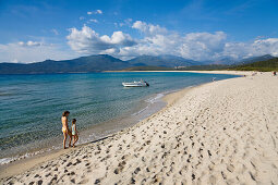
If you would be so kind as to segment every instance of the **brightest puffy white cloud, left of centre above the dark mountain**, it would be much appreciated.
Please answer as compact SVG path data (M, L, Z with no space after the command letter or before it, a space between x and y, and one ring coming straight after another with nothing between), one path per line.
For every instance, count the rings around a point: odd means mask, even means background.
M70 29L67 37L70 47L81 53L100 53L102 51L117 50L119 47L134 46L136 41L129 34L114 32L111 37L107 35L99 36L90 27L84 25L81 30Z

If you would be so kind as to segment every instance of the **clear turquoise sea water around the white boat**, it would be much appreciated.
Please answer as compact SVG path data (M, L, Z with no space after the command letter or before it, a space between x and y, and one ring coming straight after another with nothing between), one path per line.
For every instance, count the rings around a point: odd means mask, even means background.
M60 138L64 110L71 112L70 120L77 119L82 133L98 123L134 115L157 94L207 83L213 77L234 76L172 72L0 75L0 159L43 148ZM141 78L150 86L121 85Z

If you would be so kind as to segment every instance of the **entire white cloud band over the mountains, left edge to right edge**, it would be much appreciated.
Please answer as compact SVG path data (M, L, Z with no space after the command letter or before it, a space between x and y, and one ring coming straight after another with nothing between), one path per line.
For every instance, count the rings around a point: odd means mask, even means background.
M112 54L121 59L141 54L174 54L198 61L219 60L226 57L242 59L263 54L278 57L278 38L257 37L246 42L235 42L228 41L223 32L180 34L142 21L132 22L128 18L123 23L138 30L136 38L122 30L113 32L111 35L100 35L84 25L81 29L75 27L69 29L67 39L71 51L45 41L0 44L0 62L61 60L99 53Z

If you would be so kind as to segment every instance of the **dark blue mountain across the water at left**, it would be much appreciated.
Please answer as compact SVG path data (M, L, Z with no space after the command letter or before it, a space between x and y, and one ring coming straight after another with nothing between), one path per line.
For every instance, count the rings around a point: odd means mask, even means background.
M0 63L0 74L39 74L39 73L81 73L122 70L132 66L125 61L108 54L82 57L73 60L53 61L31 64Z

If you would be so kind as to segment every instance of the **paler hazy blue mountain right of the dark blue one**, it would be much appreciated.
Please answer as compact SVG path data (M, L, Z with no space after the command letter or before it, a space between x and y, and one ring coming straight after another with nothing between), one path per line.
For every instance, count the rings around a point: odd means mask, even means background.
M184 59L177 55L140 55L128 61L130 64L135 66L165 66L165 67L174 67L174 66L190 66L197 65L200 62Z

